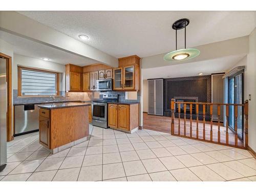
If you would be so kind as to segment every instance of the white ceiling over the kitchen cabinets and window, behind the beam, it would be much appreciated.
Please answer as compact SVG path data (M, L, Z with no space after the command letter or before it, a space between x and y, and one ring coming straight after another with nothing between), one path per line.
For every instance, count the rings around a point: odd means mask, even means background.
M1 30L0 38L13 45L13 51L18 55L29 56L37 59L46 57L49 58L52 62L60 63L63 65L67 63L73 63L78 66L86 66L98 62L87 57L81 57L65 51L61 51Z

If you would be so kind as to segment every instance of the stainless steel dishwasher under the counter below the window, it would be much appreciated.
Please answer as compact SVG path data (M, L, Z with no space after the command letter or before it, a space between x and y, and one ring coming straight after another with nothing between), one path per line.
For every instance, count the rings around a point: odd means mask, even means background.
M39 130L40 104L15 105L14 107L14 136Z

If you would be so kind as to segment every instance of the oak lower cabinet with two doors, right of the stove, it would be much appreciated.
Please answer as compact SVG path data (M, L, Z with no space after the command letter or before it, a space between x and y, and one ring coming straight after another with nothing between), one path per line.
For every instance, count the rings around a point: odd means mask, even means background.
M139 104L108 104L108 126L131 132L139 126Z

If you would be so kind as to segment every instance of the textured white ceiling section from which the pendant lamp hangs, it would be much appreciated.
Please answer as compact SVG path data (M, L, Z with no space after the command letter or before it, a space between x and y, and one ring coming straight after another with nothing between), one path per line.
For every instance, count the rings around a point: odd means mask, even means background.
M175 49L172 24L188 18L187 47L249 35L253 11L19 11L38 22L117 58L146 57ZM183 48L184 31L178 31Z

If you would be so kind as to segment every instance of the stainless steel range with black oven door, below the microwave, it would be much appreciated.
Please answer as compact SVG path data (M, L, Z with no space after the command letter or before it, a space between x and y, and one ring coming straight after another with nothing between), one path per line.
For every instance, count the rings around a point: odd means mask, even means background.
M103 100L92 103L92 124L108 128L108 102L118 101L117 94L103 94Z

